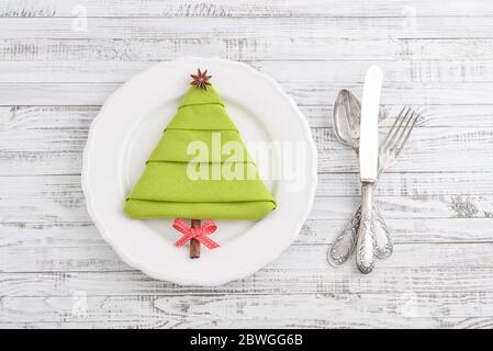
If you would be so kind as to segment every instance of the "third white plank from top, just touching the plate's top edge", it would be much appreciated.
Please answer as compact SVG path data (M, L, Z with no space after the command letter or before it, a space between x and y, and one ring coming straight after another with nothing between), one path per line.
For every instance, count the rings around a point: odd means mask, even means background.
M3 61L157 61L180 56L234 60L489 60L493 39L234 38L0 38Z

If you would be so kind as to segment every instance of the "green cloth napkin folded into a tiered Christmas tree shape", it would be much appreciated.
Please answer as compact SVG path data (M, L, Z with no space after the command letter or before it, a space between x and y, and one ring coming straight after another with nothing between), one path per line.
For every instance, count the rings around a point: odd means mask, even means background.
M274 208L212 87L189 89L124 205L132 218L256 220Z

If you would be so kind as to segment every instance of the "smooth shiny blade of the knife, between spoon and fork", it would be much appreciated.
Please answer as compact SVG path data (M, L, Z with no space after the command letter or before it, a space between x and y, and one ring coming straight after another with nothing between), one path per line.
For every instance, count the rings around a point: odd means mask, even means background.
M362 182L374 182L379 158L379 109L383 72L371 66L365 77L359 139L359 172Z

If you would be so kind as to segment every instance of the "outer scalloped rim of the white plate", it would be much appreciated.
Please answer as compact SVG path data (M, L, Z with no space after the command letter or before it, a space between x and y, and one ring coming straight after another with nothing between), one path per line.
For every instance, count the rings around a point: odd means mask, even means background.
M166 64L170 64L170 63L179 63L179 61L187 61L187 60L213 60L216 61L217 64L221 65L229 65L229 66L237 66L244 70L247 70L249 73L259 76L260 78L262 78L266 82L268 82L276 91L277 93L279 93L279 95L281 98L283 98L288 103L289 103L289 107L290 110L298 116L298 118L301 121L302 125L303 125L303 132L305 134L307 144L309 144L309 148L311 151L311 156L313 159L312 162L312 169L310 170L310 176L312 177L311 181L307 183L306 185L306 193L309 194L309 205L305 207L304 212L302 213L302 215L300 216L300 219L298 220L296 225L294 226L293 230L292 230L292 235L291 237L289 237L289 239L287 238L287 240L284 242L280 242L282 245L278 245L276 246L276 248L272 248L270 250L270 254L265 257L265 259L259 260L256 264L251 264L249 265L249 268L247 270L239 270L239 271L233 271L228 274L224 274L221 278L215 278L215 279L206 279L206 280L190 280L190 279L182 279L182 278L177 278L176 275L170 276L166 273L163 272L155 272L150 269L148 269L147 267L145 267L145 264L141 264L139 262L135 261L134 259L130 258L126 253L124 253L122 250L120 250L117 244L115 242L116 240L114 240L113 238L111 238L110 235L108 235L107 233L107 228L103 225L102 220L100 218L98 218L98 216L96 215L93 208L92 208L92 193L91 190L89 189L89 184L88 184L88 172L89 172L89 157L90 157L90 151L92 149L92 145L94 144L94 134L96 134L96 127L99 123L99 121L102 120L102 116L105 114L105 111L108 109L109 105L112 105L112 101L115 99L115 97L120 93L120 91L128 83L131 83L132 81L138 80L138 78L141 76L143 76L147 70L153 69L156 66L159 65L166 65ZM86 141L86 146L83 148L83 152L82 152L82 169L81 169L81 185L82 185L82 192L86 199L86 207L89 214L89 217L91 218L91 220L93 222L96 228L98 229L99 234L101 235L101 237L103 238L103 240L110 245L112 247L112 249L116 252L116 254L119 256L119 258L125 262L126 264L128 264L130 267L142 271L144 274L159 280L159 281L167 281L167 282L171 282L171 283L176 283L176 284L180 284L180 285L200 285L200 286L215 286L215 285L222 285L222 284L226 284L228 282L232 281L236 281L236 280L240 280L240 279L245 279L250 276L251 274L254 274L255 272L257 272L258 270L260 270L261 268L266 267L267 264L273 262L279 256L281 256L281 253L288 249L296 239L303 224L305 223L306 218L309 217L309 214L313 207L313 201L315 197L315 191L317 188L317 182L318 182L318 177L317 177L317 162L318 162L318 154L317 154L317 149L316 149L316 145L315 141L313 140L312 137L312 133L311 133L311 128L309 125L309 122L306 121L306 118L304 117L304 115L302 114L302 112L300 111L300 109L298 107L296 103L294 102L294 100L288 94L285 93L282 88L280 87L280 84L270 76L268 76L265 72L261 72L255 68L253 68L251 66L242 63L242 61L235 61L235 60L229 60L229 59L223 59L220 57L200 57L200 56L183 56L183 57L179 57L172 60L164 60L164 61L159 61L157 64L150 65L148 68L144 69L143 71L132 76L130 79L127 79L124 83L122 83L115 91L113 91L105 100L103 105L101 106L101 110L98 112L98 114L96 115L96 117L92 120L90 126L89 126L89 134L87 137L87 141Z

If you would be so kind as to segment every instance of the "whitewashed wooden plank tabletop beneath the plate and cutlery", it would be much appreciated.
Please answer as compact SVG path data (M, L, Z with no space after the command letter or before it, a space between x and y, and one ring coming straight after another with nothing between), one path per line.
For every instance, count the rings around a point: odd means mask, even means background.
M158 60L214 55L271 75L310 121L320 185L296 242L243 281L182 287L125 265L80 188L89 125ZM327 267L357 162L340 88L385 70L383 103L427 115L377 195L395 252ZM391 121L385 122L386 127ZM0 327L493 327L491 1L4 0L0 4Z

